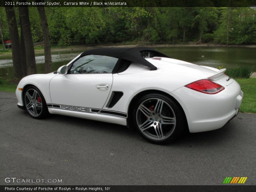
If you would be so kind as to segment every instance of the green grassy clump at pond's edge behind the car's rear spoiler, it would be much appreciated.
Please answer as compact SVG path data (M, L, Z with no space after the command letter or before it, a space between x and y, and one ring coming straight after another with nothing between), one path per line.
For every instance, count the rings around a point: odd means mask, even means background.
M252 72L252 68L249 67L239 67L226 70L226 74L232 78L249 78L252 75Z

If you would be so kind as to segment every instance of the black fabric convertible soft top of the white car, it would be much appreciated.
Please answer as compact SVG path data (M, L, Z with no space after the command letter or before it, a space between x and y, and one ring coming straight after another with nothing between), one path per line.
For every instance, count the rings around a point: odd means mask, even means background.
M167 55L149 47L97 48L83 52L81 54L81 57L85 55L105 55L109 57L115 57L139 63L141 65L149 67L150 70L156 70L156 66L145 60L145 56L170 58Z

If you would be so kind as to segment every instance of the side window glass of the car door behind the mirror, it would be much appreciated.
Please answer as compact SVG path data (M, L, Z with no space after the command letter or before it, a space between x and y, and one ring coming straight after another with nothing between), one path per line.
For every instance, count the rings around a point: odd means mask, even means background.
M69 74L112 73L117 60L104 55L85 55L73 63Z

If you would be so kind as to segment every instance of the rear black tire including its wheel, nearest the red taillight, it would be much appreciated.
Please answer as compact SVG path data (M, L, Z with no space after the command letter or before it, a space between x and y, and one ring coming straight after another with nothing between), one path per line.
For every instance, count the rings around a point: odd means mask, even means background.
M156 144L177 139L187 123L176 102L158 93L145 95L136 102L132 120L143 138Z

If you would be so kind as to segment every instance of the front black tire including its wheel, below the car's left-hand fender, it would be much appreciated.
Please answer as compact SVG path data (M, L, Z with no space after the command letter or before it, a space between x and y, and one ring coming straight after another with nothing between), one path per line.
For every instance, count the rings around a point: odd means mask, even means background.
M29 99L29 96L27 95L27 93L30 96L32 96L32 98L30 98L32 101ZM31 95L32 93L35 93L35 98L33 98L33 95ZM48 111L47 104L45 102L43 94L40 92L40 90L37 87L33 85L28 86L24 90L23 104L28 114L35 119L42 119L49 115L49 111ZM41 104L41 107L40 107L40 104Z

